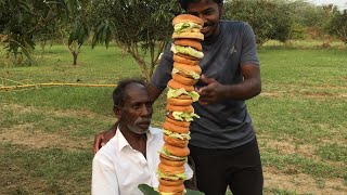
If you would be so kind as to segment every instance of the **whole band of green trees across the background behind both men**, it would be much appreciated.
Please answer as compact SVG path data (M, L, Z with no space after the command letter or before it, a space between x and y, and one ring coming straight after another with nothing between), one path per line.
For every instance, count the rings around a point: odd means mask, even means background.
M182 12L176 0L0 0L1 40L16 64L35 63L30 52L40 43L62 42L77 65L82 44L111 41L128 52L149 80L172 31L171 20ZM305 0L229 0L226 20L252 25L257 43L295 39L347 40L346 11Z

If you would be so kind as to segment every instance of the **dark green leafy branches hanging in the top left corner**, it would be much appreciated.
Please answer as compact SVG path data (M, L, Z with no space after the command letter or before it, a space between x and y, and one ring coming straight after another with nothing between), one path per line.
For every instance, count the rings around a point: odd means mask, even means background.
M59 21L67 24L74 12L81 10L81 0L0 0L0 31L7 36L5 48L16 58L24 54L31 61L30 51L35 39L50 39L49 34L56 31ZM85 37L82 37L85 39ZM80 37L73 37L78 40ZM80 40L83 40L80 39Z

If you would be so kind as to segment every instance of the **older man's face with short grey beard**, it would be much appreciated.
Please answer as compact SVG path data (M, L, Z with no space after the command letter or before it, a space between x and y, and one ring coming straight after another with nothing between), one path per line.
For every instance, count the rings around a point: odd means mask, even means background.
M144 86L131 83L126 88L124 106L120 108L121 126L130 131L142 134L147 132L153 107Z

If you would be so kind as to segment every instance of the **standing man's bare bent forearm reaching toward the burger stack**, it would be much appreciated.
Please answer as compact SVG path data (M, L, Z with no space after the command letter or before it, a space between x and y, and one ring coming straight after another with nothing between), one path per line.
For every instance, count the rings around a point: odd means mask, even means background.
M207 86L198 89L202 105L213 104L222 100L248 100L261 91L260 68L258 65L245 64L242 66L244 80L236 84L221 84L214 78L202 77Z

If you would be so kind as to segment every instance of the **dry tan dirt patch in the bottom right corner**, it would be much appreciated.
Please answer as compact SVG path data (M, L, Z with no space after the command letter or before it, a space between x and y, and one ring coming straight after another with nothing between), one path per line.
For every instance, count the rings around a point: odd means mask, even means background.
M347 194L342 179L325 179L320 184L314 178L304 173L287 174L275 168L264 167L265 187L280 188L299 194Z

